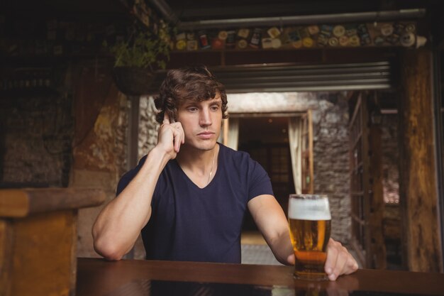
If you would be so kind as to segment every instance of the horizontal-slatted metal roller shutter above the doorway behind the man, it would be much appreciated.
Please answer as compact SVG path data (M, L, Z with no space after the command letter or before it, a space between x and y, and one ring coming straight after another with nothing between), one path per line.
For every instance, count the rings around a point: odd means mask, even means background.
M389 61L330 65L245 65L211 67L227 92L316 92L351 89L390 89L394 86ZM165 71L152 83L157 93Z

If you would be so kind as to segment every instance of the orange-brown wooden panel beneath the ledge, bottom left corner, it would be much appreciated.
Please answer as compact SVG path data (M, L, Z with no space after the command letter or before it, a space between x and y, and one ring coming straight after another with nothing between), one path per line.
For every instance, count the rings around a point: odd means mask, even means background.
M0 234L1 296L74 295L77 210L1 220Z

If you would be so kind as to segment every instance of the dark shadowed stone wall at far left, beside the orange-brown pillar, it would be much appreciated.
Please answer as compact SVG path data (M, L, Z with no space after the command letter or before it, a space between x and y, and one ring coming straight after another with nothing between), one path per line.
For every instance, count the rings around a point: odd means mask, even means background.
M11 93L0 102L1 187L66 187L72 164L72 94Z

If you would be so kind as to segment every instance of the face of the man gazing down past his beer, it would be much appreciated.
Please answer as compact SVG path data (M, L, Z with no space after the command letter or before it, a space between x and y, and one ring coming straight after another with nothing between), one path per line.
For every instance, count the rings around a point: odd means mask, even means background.
M184 146L199 150L211 150L221 133L222 100L219 94L214 99L202 102L185 101L177 111L177 121L185 133Z

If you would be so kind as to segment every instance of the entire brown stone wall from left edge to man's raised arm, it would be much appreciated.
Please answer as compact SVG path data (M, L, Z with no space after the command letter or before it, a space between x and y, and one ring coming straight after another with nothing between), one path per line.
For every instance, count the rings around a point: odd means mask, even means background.
M96 187L115 197L128 170L128 100L105 61L82 60L60 85L0 100L1 187ZM79 210L77 256L98 256L91 226L101 207Z

